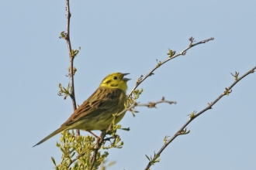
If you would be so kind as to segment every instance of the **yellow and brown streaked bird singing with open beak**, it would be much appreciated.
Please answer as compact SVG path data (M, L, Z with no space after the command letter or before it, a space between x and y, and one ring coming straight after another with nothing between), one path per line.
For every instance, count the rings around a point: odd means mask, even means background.
M112 73L106 76L100 83L99 88L71 114L71 117L61 125L61 128L43 138L36 145L40 145L64 130L81 129L92 131L109 128L113 119L112 114L119 113L124 109L127 81L130 79L123 76L127 74L129 73ZM121 121L123 116L124 114L116 117L116 124Z

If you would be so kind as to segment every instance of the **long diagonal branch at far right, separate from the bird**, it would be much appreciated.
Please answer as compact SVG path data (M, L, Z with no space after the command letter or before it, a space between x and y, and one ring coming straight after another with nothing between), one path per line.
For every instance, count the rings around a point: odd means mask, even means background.
M185 124L182 126L182 128L180 128L176 133L175 135L173 135L169 140L167 140L167 137L164 138L164 145L162 146L162 148L157 152L157 155L158 157L161 155L161 152L164 151L164 148L166 148L170 143L171 141L175 140L176 137L178 137L178 135L181 135L181 134L189 134L189 131L186 131L186 126L188 126L188 124L190 122L192 122L195 117L198 117L200 114L204 113L206 110L209 110L209 109L212 109L213 108L213 105L216 104L217 101L219 101L223 96L225 95L229 95L229 93L232 92L232 87L234 87L234 85L236 85L240 80L242 80L245 76L249 75L250 73L254 73L254 70L256 70L256 66L254 66L254 68L252 68L250 71L248 71L247 73L245 73L243 76L240 76L240 78L238 78L238 74L236 72L235 75L232 75L234 76L234 83L232 83L230 85L230 87L226 87L225 88L225 91L223 93L220 94L220 97L217 97L216 100L214 100L211 104L208 104L208 107L206 107L205 109L201 110L199 113L196 114L196 112L194 111L192 114L190 114L189 116L189 121L185 122ZM147 167L145 168L145 170L149 169L151 165L153 165L154 162L149 162L147 164Z

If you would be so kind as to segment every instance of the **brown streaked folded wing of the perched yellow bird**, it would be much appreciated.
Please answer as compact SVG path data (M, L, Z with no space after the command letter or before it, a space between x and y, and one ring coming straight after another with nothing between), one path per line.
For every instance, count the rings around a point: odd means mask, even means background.
M119 97L123 93L123 90L114 88L97 89L61 126L69 126L82 119L97 116L111 107L116 107L119 104ZM124 95L126 94L124 93Z

